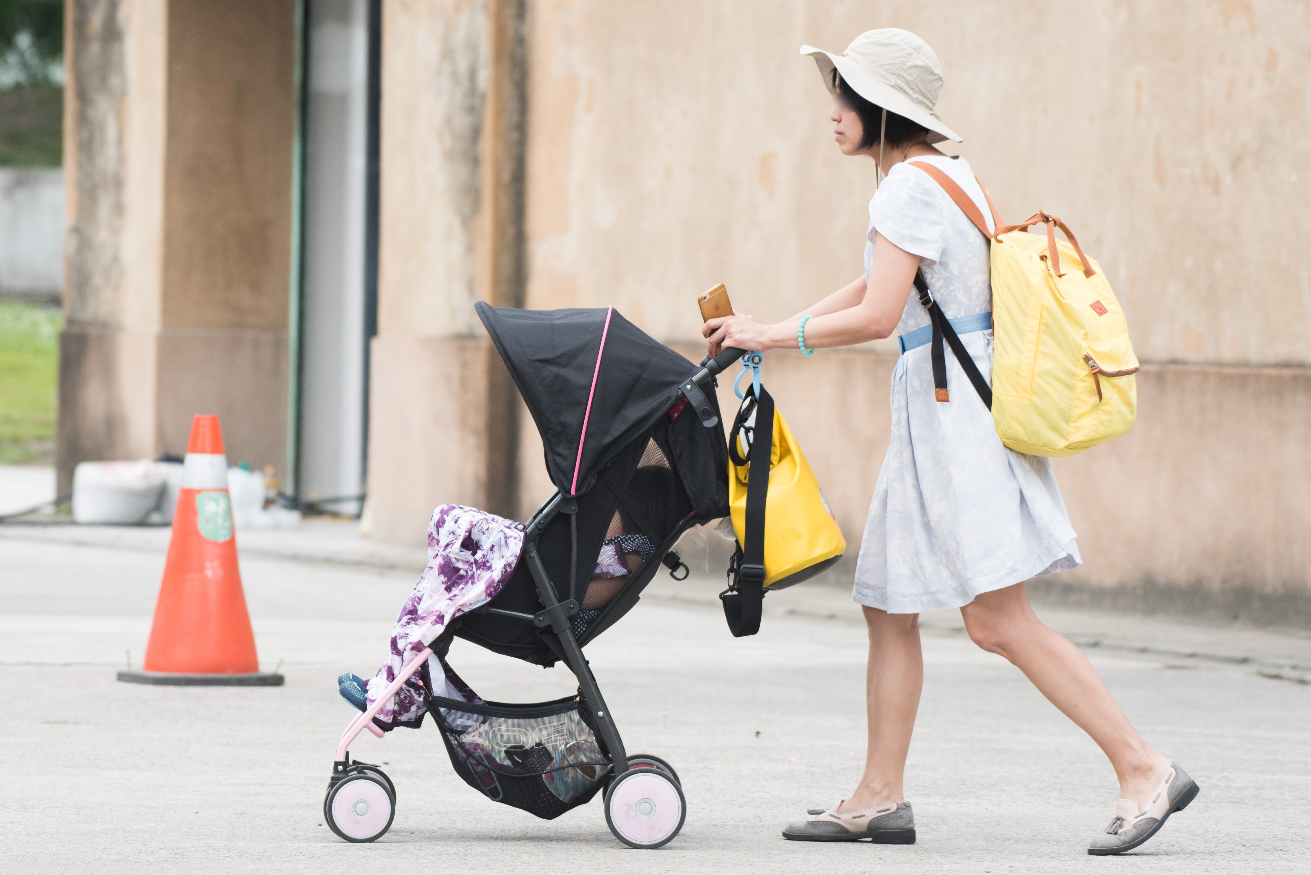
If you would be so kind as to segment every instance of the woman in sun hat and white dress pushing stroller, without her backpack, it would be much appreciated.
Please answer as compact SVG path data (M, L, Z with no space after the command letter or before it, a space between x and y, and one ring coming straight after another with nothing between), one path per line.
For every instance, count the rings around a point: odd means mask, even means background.
M1024 580L1080 563L1050 461L1003 445L950 354L945 379L965 388L935 389L944 362L936 354L931 362L932 303L982 375L991 373L994 352L987 238L935 179L962 190L981 219L994 211L966 161L933 147L961 139L933 111L943 86L937 58L919 37L895 29L867 31L842 55L801 51L815 59L834 97L829 118L838 148L872 158L884 177L869 202L865 271L789 320L763 325L735 314L707 322L705 335L712 350L800 346L809 355L897 333L902 354L852 593L869 631L865 772L850 796L812 811L783 836L915 841L902 777L923 684L918 616L960 608L970 638L1020 668L1110 760L1120 802L1088 853L1137 847L1193 800L1197 785L1147 744L1079 648L1029 606ZM982 220L996 232L999 223ZM910 295L919 272L932 295L923 307L923 286L920 300ZM1007 825L1009 834L1025 830Z

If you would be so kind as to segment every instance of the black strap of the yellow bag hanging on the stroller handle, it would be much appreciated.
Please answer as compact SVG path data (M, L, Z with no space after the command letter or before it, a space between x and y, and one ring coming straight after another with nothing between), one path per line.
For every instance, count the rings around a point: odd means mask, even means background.
M751 392L751 389L749 389ZM737 460L738 434L743 428L751 405L743 405L733 423L729 453ZM770 490L770 462L773 456L773 397L760 386L755 403L755 428L743 460L750 465L746 483L746 544L742 562L737 566L734 586L725 592L724 618L734 638L760 631L760 603L764 601L764 506ZM755 462L760 462L756 470Z

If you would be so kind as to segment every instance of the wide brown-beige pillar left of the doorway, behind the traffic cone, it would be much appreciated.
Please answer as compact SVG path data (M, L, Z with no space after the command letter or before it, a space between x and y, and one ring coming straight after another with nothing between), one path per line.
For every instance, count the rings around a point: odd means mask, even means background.
M56 460L284 461L294 0L68 0Z

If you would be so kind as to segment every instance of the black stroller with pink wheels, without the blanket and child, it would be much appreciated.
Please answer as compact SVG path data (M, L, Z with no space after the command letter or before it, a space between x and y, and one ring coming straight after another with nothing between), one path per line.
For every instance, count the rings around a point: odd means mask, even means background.
M477 312L536 422L557 491L526 523L519 562L501 592L452 621L342 734L324 816L347 841L374 841L391 827L395 787L378 766L353 762L347 745L366 728L383 735L374 715L406 684L475 790L547 819L603 792L606 823L620 841L659 847L683 827L678 774L659 757L624 749L582 651L637 604L662 566L686 568L671 551L683 532L729 512L728 447L705 384L742 351L692 365L614 308L479 304ZM691 508L671 531L642 520L625 495L644 457L662 457L676 474L670 481L679 504ZM574 618L620 506L657 549L578 635ZM444 656L452 637L544 667L562 661L578 694L535 705L433 696L416 672L433 652Z

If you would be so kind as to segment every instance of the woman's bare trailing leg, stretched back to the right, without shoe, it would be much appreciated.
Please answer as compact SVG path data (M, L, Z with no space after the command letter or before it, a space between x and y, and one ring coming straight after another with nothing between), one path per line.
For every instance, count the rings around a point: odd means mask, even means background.
M1079 648L1034 616L1024 584L985 592L961 616L975 644L1006 656L1097 743L1116 770L1121 798L1146 803L1169 760L1143 741Z

